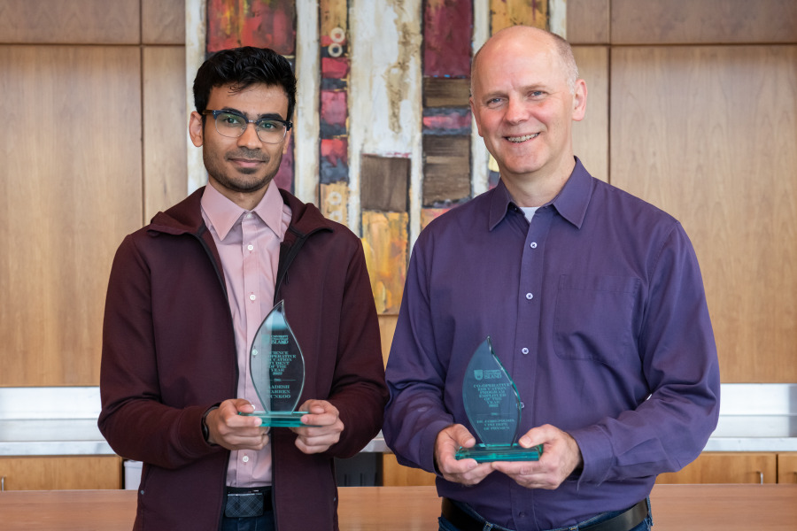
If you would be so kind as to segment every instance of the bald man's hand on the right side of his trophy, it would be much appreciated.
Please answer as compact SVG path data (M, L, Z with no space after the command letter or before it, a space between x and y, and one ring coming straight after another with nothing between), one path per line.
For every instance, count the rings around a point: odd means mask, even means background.
M523 448L543 444L543 454L538 461L496 461L492 467L526 489L556 489L582 465L576 440L550 424L531 428L518 443Z

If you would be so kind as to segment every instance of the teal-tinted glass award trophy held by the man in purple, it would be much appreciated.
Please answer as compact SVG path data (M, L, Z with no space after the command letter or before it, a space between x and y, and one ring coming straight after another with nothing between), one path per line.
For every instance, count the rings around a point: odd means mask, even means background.
M492 350L490 336L470 358L462 381L462 399L470 426L481 443L457 450L458 459L490 461L537 461L542 444L523 448L516 442L521 401L515 382Z

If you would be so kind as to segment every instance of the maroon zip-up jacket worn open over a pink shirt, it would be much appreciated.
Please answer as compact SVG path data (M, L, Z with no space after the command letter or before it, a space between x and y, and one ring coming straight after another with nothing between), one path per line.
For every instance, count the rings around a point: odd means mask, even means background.
M143 461L136 530L216 530L229 451L205 442L201 416L236 397L235 335L199 189L128 235L105 302L98 426L123 458ZM337 529L333 458L382 427L387 401L374 297L360 239L280 190L292 217L280 248L275 301L301 345L299 404L329 400L344 431L306 455L288 428L271 430L279 531Z

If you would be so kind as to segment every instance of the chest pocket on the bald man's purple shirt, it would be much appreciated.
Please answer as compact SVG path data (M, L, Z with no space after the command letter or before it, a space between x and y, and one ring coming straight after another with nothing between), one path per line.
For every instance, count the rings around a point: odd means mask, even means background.
M562 359L614 365L636 356L636 277L561 275L553 313L553 348Z

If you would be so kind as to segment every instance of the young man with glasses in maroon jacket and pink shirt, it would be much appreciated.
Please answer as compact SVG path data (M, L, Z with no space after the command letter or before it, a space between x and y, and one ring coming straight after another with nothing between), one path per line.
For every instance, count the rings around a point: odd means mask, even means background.
M387 393L359 238L272 182L296 79L273 50L222 50L194 81L208 185L128 235L105 306L98 425L143 461L135 529L337 529L333 458ZM249 346L284 301L305 358L302 427L260 425Z

